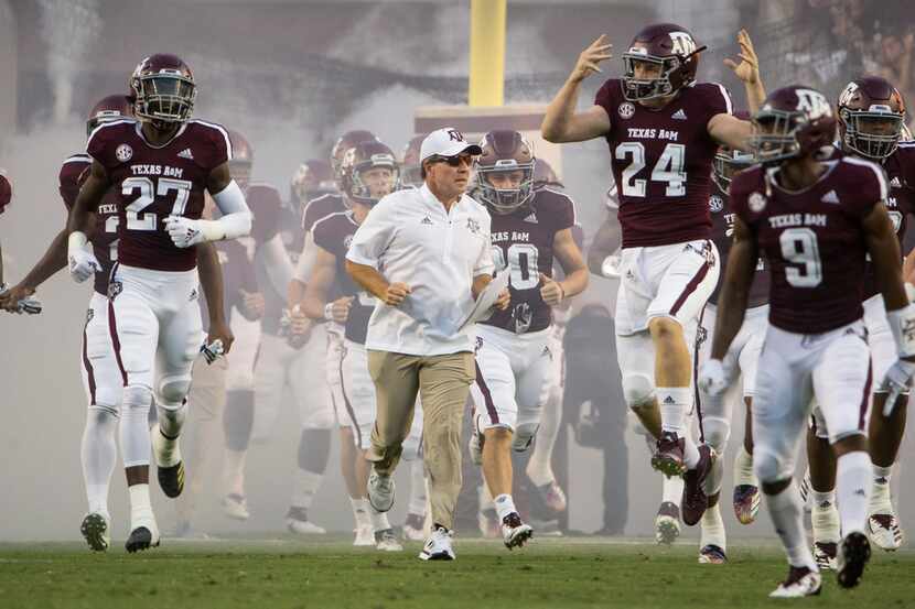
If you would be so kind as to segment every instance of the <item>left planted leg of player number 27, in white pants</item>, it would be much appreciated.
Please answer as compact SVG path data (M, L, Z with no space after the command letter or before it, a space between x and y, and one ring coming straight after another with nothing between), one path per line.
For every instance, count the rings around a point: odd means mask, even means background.
M130 535L125 544L128 552L159 545L159 526L152 512L149 492L150 432L149 413L152 406L153 362L159 341L159 319L151 301L146 296L143 281L116 271L115 284L108 304L108 325L115 357L122 373L120 448L130 496Z

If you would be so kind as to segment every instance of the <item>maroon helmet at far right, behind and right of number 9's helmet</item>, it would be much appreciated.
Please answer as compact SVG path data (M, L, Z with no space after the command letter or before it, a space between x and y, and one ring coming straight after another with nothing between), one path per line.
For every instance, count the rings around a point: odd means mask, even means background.
M878 161L896 150L905 120L902 94L880 76L855 78L839 96L842 148Z

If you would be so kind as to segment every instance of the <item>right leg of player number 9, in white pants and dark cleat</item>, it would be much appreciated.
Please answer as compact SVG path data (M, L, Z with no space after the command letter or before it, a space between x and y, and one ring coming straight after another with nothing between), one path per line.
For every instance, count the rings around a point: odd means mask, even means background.
M842 531L836 568L844 588L858 585L870 559L865 531L873 483L865 435L871 354L863 324L852 328L854 331L843 331L826 347L814 370L817 401L836 453L836 499Z

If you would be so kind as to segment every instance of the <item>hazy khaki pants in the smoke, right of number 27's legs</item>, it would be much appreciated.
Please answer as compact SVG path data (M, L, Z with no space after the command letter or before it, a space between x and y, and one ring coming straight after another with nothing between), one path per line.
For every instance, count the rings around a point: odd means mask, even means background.
M187 460L187 485L175 501L180 521L193 518L204 481L214 479L208 470L222 463L227 368L225 357L209 366L203 356L194 361L191 393L187 395L187 427L182 438Z

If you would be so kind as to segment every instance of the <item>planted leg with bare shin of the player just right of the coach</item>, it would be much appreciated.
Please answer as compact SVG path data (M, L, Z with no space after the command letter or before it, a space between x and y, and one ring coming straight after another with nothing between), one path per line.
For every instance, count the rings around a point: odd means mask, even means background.
M473 422L473 433L482 435L483 479L493 498L503 541L510 550L524 545L531 529L521 522L512 496L512 446L518 423L518 403L513 369L516 358L510 351L520 349L521 344L500 338L495 331L481 331L475 358L476 380L471 392L474 403L481 405ZM527 429L530 437L531 431Z

